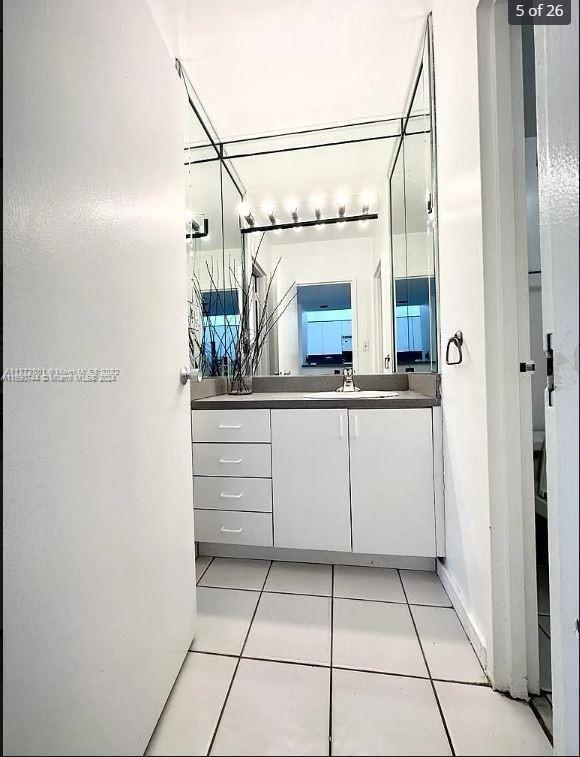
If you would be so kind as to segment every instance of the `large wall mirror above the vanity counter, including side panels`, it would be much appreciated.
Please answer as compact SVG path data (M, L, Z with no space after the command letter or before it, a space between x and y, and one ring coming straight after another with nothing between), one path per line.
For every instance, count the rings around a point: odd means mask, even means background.
M190 348L204 376L231 376L240 353L258 376L438 370L429 24L417 49L391 118L220 142L191 94Z

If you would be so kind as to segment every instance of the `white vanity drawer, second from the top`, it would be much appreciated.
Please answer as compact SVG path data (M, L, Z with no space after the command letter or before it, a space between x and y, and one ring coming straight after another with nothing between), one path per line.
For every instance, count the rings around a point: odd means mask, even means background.
M270 478L272 476L270 445L195 442L193 472L196 476Z

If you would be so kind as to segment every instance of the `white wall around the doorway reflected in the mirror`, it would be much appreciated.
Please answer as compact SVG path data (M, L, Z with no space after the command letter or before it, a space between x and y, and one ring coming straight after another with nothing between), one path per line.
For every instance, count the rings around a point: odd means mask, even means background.
M279 257L278 296L293 283L353 282L353 361L357 373L373 373L373 292L372 237L306 241L297 244L272 244L272 260ZM356 301L355 301L356 298ZM363 351L363 342L369 349ZM357 351L355 352L355 342ZM293 376L301 372L298 348L298 314L294 300L278 323L279 367ZM308 375L311 375L310 369Z

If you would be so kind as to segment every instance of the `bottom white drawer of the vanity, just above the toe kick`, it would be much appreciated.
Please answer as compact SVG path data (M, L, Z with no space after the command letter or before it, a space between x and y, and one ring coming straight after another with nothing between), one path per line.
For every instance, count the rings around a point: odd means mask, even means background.
M220 510L194 511L195 540L218 544L252 544L271 547L272 516Z

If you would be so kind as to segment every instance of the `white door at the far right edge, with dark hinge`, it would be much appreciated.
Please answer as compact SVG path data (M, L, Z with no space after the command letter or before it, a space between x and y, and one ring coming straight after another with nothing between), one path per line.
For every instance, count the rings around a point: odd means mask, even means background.
M536 26L554 753L578 754L578 7ZM549 335L549 336L548 336ZM550 372L550 371L549 371ZM548 379L550 380L550 378Z

